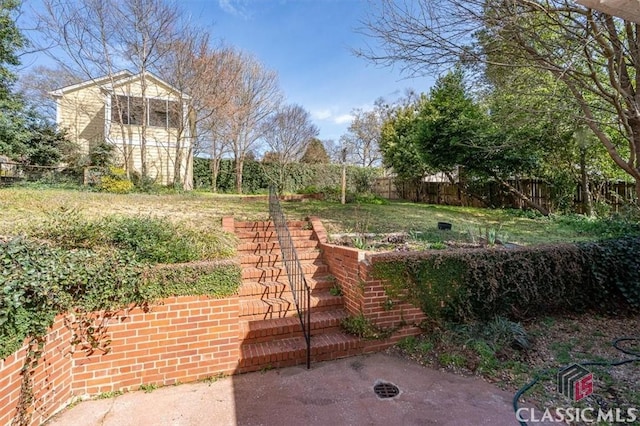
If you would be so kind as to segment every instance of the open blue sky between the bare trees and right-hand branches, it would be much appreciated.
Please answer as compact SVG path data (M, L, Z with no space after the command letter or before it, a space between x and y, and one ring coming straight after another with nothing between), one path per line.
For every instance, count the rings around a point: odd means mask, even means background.
M26 0L27 8L38 0ZM338 141L354 108L371 109L412 88L427 92L432 79L405 79L391 68L357 58L352 48L371 43L356 29L367 0L180 0L179 5L214 42L255 55L279 75L286 102L311 113L320 139ZM26 58L25 58L26 59ZM45 54L31 65L49 62Z

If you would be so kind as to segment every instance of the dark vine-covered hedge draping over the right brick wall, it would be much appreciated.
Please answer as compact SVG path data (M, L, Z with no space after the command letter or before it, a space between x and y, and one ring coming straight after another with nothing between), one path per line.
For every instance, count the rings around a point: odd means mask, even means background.
M640 237L515 249L371 257L391 297L434 319L526 319L561 312L640 309Z

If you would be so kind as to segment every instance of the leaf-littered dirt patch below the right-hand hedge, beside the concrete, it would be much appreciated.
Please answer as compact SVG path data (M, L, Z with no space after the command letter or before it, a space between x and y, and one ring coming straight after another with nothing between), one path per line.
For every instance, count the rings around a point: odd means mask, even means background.
M515 393L537 378L520 399L538 408L591 407L594 410L640 410L640 340L612 343L619 338L640 339L640 314L602 317L592 314L546 317L521 324L528 347L518 344L495 347L486 334L472 327L434 328L415 341L402 342L391 352L423 365L463 376L481 376L501 389ZM479 328L482 330L482 328ZM477 331L477 330L476 330ZM494 346L494 347L492 347ZM492 349L496 349L492 352ZM558 392L557 373L574 363L616 363L620 366L586 365L593 373L593 394L574 402Z

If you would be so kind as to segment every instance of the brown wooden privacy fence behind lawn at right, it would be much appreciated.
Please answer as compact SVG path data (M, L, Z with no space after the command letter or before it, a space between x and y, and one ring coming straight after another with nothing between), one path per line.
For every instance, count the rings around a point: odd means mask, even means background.
M536 204L553 210L553 188L539 179L512 180L509 184L525 194ZM635 185L630 182L602 182L594 185L594 201L606 202L615 211L630 200L635 199ZM389 200L408 200L419 203L441 204L449 206L486 207L521 209L524 201L508 192L497 182L489 182L476 191L485 202L464 194L458 185L450 182L396 182L393 177L375 180L373 192ZM576 185L573 203L577 209L582 203L581 185Z

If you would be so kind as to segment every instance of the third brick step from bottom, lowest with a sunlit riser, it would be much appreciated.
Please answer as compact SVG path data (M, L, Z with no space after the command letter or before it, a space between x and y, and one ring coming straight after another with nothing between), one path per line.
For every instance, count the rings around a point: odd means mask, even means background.
M342 296L333 296L328 290L317 290L311 294L312 312L328 311L342 308L342 306ZM243 297L240 299L240 317L243 320L284 318L297 314L290 291L285 291L280 297Z

